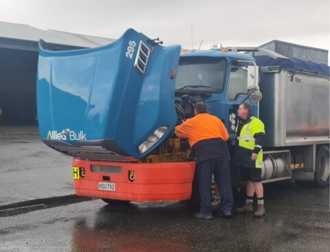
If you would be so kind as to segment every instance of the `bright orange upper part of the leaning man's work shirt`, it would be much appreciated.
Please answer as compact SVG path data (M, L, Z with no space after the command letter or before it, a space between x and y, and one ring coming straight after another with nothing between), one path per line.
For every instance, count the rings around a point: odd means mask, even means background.
M190 147L197 141L221 137L227 141L228 131L218 117L208 113L195 115L183 124L175 127L175 135L179 138L187 138Z

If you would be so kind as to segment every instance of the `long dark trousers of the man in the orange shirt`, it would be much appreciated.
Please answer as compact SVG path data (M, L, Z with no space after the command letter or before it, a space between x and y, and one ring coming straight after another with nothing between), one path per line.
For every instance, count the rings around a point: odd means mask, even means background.
M232 186L230 183L229 159L208 159L197 165L199 195L201 196L201 214L212 214L211 180L214 180L220 192L220 211L232 210Z

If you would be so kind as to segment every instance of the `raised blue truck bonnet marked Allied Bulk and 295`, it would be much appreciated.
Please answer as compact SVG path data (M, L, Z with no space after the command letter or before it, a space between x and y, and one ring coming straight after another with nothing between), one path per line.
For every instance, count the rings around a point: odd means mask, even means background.
M49 51L39 43L39 132L47 146L83 159L137 160L173 133L175 78L181 47L162 47L127 30L92 49ZM159 140L141 151L139 146ZM157 135L157 134L156 134Z

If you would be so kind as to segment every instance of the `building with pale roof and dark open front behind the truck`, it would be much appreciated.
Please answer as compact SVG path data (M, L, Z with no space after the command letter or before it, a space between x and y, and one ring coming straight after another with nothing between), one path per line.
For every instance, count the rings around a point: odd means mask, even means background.
M36 125L39 40L54 50L98 47L113 39L0 22L0 124Z

